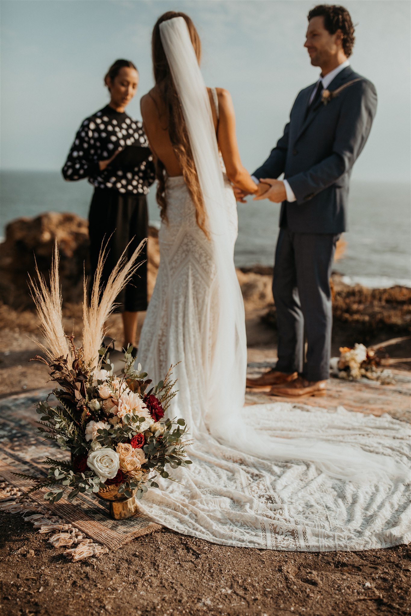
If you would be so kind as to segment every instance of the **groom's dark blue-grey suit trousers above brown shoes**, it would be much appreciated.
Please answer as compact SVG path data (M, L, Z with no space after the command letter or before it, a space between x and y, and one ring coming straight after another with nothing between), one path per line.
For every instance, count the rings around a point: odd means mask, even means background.
M293 233L282 227L275 249L272 293L279 330L276 369L298 371L309 381L322 381L330 373L330 275L339 237L331 233Z

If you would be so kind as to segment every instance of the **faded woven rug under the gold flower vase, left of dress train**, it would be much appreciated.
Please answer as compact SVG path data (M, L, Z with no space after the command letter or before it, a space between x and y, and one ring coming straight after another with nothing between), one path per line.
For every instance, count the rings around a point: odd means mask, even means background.
M44 441L36 430L39 415L34 405L38 400L45 400L47 394L48 391L35 391L10 396L0 402L0 477L23 493L33 484L16 477L13 472L46 474L43 465L46 456L55 460L69 457L53 441ZM113 520L108 503L95 495L78 495L71 503L61 498L58 503L51 505L44 500L44 492L47 492L47 488L31 493L30 500L52 511L66 524L72 524L108 549L120 548L134 537L161 529L159 524L144 514L137 514L128 520Z

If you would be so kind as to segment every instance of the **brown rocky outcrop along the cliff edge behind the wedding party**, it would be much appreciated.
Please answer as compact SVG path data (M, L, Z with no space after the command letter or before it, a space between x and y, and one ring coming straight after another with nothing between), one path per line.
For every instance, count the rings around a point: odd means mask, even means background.
M35 260L46 277L51 266L54 242L60 250L60 280L64 304L77 304L83 298L83 271L89 272L87 221L75 214L41 214L36 218L20 218L6 228L6 240L0 245L0 301L17 310L32 308L28 293L28 274L35 275ZM341 246L343 250L344 246ZM158 231L149 230L148 290L152 294L160 251ZM246 312L263 312L264 321L276 327L272 303L271 267L249 267L237 270ZM405 334L411 331L411 290L397 286L391 289L367 289L348 286L333 275L334 330L344 336L352 331L353 341L367 341L376 331ZM350 344L350 340L344 344Z

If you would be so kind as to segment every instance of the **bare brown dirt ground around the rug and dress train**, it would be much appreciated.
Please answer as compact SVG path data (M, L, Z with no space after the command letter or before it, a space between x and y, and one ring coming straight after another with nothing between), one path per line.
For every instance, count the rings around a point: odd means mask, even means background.
M65 308L79 335L78 308ZM275 358L276 334L248 311L249 362ZM36 320L2 315L0 397L43 388ZM121 341L121 320L110 320ZM28 336L34 338L30 340ZM340 341L335 339L333 352ZM406 357L401 349L396 357ZM406 375L407 373L404 372ZM4 615L346 616L410 613L411 548L292 553L227 548L170 530L100 559L71 563L18 515L0 514L0 613Z

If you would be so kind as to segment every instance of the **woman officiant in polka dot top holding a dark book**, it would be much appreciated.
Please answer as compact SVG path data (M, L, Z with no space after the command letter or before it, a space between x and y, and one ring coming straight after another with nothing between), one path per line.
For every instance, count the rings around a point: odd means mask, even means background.
M125 111L137 92L137 68L129 60L116 60L104 83L110 102L83 121L62 169L65 180L87 178L94 186L89 211L90 288L102 247L107 246L102 275L106 285L126 246L131 256L147 237L146 195L155 179L142 123ZM139 261L136 274L116 300L115 311L123 317L124 348L135 346L138 312L147 309L147 246Z

